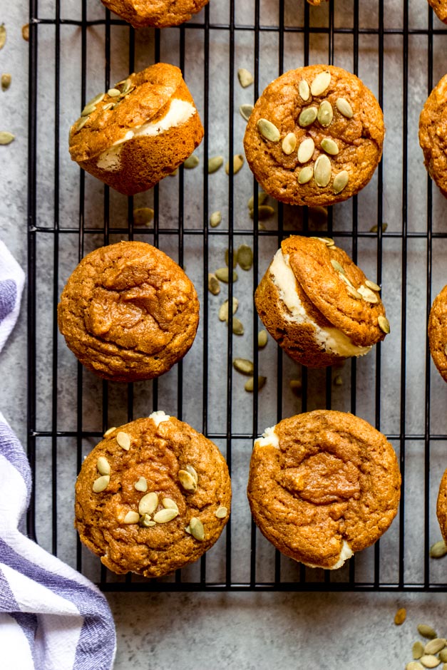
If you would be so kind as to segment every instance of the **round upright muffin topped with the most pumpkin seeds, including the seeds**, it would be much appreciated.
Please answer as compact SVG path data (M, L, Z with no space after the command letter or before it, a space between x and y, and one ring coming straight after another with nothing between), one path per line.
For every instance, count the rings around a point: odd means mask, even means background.
M359 192L381 159L384 117L355 75L328 65L267 86L245 131L247 162L266 193L290 205L333 205Z

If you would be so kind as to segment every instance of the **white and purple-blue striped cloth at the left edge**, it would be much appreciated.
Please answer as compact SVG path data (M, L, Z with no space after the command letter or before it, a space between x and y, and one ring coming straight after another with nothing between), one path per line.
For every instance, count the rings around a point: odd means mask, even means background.
M0 242L0 350L23 286L24 273ZM19 530L31 485L24 450L0 414L0 668L109 670L116 643L106 598Z

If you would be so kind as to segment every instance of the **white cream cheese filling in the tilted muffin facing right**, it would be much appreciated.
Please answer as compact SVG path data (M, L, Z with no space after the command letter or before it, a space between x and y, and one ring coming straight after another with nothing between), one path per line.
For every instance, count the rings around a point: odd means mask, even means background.
M296 279L289 264L288 254L278 249L270 265L270 277L279 291L279 298L289 310L284 319L297 324L311 324L314 338L323 351L338 356L364 356L372 349L371 346L356 346L349 337L338 328L321 328L304 309L296 290Z

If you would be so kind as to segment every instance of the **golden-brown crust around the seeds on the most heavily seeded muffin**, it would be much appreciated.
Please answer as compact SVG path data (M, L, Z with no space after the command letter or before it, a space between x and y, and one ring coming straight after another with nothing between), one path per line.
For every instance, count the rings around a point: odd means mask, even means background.
M322 72L330 73L329 86L318 96L303 100L299 83L312 82ZM338 98L344 98L353 111L346 118L336 107ZM319 120L302 127L302 110L329 101L333 120L324 127ZM279 141L266 140L257 128L261 118L273 123L279 130ZM282 140L288 133L297 139L296 150L289 155L282 149ZM299 163L297 150L304 139L314 140L314 153L307 163ZM322 148L322 140L335 141L339 153L329 155ZM359 78L341 68L327 65L307 66L284 73L267 86L257 100L245 132L244 146L247 161L265 192L292 205L328 205L340 202L359 192L371 179L379 163L384 141L384 119L379 103ZM299 172L314 167L319 155L326 155L332 166L332 175L326 187L319 187L312 179L299 184ZM334 192L334 177L346 170L349 182L339 193Z

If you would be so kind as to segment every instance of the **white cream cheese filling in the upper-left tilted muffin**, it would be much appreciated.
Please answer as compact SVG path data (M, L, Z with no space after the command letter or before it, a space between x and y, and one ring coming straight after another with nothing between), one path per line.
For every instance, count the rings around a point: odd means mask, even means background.
M145 137L155 137L156 135L166 133L170 128L178 128L179 125L186 123L195 113L195 106L187 102L187 100L173 98L163 118L158 119L158 121L148 121L147 123L130 128L122 138L114 142L111 147L98 156L97 167L110 172L119 170L121 165L120 153L125 142L142 135L145 135Z

